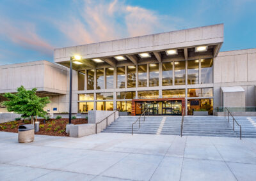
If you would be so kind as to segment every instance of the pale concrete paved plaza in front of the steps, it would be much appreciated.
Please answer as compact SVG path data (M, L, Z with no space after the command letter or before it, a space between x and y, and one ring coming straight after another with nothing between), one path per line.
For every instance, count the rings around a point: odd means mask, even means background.
M0 180L255 180L256 139L0 132Z

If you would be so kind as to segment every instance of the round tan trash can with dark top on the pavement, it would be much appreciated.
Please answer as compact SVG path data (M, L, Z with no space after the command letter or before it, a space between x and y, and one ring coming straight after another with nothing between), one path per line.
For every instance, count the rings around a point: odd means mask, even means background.
M18 129L18 141L19 143L29 143L34 141L35 127L33 124L20 125Z

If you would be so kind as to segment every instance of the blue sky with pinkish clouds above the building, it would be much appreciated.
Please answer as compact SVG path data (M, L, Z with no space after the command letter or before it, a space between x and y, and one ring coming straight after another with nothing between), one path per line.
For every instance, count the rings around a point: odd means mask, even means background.
M0 0L0 65L54 48L224 24L222 51L256 48L256 0Z

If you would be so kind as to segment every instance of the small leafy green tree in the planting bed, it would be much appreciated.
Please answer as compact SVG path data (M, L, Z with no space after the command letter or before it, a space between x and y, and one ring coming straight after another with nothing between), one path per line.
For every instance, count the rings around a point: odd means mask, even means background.
M6 93L4 98L8 101L4 101L3 105L6 106L8 112L15 112L21 114L22 118L31 117L31 121L34 124L34 117L45 117L47 112L44 111L45 106L49 101L49 97L40 98L36 96L36 88L32 90L26 90L23 86L17 88L17 93Z

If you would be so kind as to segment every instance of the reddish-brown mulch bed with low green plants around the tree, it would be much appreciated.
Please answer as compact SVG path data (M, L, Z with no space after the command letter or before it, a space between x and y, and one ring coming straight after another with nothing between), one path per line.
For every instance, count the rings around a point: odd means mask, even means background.
M66 124L68 119L37 119L40 122L39 132L35 134L44 134L50 136L69 136L66 133ZM87 124L87 119L72 119L72 124ZM0 124L0 131L18 133L18 128L22 124L31 124L30 120L14 120L12 122L4 122Z

